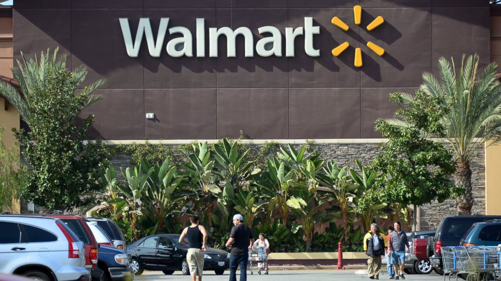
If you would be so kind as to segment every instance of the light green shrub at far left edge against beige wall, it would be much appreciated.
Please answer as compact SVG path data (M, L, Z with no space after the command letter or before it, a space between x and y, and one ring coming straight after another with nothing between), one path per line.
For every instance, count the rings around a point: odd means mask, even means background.
M28 181L27 169L19 161L19 146L6 147L0 126L0 210L11 210Z

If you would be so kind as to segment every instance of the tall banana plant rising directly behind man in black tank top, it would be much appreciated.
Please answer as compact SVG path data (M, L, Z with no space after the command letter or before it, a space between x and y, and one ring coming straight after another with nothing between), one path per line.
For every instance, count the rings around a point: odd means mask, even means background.
M181 150L189 159L184 164L185 175L194 187L195 208L202 215L208 214L208 221L212 226L212 210L214 208L214 196L221 193L221 188L214 184L214 160L211 159L211 152L207 142L192 145L193 151ZM203 216L200 216L203 218Z

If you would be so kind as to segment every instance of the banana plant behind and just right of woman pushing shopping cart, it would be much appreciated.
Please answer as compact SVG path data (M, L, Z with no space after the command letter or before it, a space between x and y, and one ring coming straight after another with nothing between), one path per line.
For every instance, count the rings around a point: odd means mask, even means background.
M254 183L258 192L268 201L267 219L277 210L283 224L287 224L289 206L287 201L293 198L291 194L294 184L295 169L290 169L276 157L267 160L268 169Z

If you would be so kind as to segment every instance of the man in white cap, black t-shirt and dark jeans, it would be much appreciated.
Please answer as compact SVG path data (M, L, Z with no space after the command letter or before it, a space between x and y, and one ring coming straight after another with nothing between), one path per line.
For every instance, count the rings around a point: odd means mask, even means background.
M240 214L233 216L233 224L230 239L226 242L226 247L231 247L230 257L230 281L236 281L236 269L240 264L240 281L247 281L247 261L248 251L254 244L252 230L243 224L243 217ZM250 240L250 242L249 242Z

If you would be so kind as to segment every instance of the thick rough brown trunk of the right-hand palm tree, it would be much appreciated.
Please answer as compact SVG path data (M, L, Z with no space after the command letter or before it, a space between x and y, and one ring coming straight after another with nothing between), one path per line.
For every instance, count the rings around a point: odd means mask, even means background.
M458 160L458 167L454 174L454 184L456 187L463 187L465 193L456 198L456 205L460 215L471 215L473 206L473 191L471 184L471 169L469 161Z

